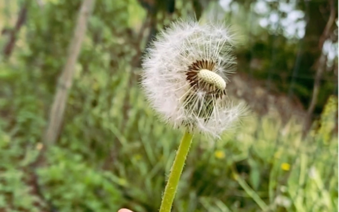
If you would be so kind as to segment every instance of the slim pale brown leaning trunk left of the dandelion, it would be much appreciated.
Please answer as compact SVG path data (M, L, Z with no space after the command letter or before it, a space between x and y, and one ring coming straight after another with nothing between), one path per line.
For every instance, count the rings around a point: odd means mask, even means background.
M46 145L53 145L61 131L69 90L73 84L74 67L79 57L87 22L93 11L95 0L84 0L73 39L69 46L68 58L57 84L57 90L49 115L49 122L43 137ZM57 59L56 59L57 60Z

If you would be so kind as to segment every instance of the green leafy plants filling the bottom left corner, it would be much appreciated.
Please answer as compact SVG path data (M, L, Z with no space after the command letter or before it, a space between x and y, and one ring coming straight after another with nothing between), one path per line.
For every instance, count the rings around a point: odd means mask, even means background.
M38 196L31 195L29 186L29 164L38 152L30 143L23 145L19 140L0 129L0 208L11 211L40 211L35 206L42 203Z

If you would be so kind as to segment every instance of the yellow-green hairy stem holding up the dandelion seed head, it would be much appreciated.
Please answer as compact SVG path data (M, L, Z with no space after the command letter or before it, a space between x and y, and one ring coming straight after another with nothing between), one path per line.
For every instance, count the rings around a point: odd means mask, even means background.
M179 145L177 155L175 156L170 175L165 187L165 192L162 197L160 210L159 212L170 212L172 208L172 203L174 200L175 193L177 191L179 179L182 173L182 170L185 165L186 156L188 154L189 147L191 146L193 135L185 132L184 136Z

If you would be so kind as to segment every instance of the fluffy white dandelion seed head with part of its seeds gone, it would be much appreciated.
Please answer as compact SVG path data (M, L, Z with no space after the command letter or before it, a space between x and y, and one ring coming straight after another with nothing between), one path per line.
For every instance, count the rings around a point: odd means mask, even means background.
M226 96L236 64L234 41L221 23L178 21L160 32L146 50L142 86L168 123L219 137L234 126L243 105Z

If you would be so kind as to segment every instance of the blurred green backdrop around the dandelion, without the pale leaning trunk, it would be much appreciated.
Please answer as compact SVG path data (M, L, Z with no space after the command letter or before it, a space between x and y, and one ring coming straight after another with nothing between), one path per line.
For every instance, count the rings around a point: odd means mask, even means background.
M158 210L182 132L145 101L140 57L188 17L237 33L228 95L251 112L220 140L194 137L173 211L338 210L336 1L94 1L50 142L82 4L0 0L0 211Z

